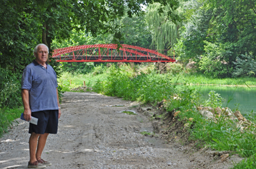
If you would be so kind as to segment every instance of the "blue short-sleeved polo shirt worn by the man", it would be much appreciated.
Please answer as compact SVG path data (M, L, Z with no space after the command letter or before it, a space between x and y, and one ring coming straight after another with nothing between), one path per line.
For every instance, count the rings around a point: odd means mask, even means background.
M29 90L31 112L58 110L57 75L49 64L45 69L35 60L23 71L21 89Z

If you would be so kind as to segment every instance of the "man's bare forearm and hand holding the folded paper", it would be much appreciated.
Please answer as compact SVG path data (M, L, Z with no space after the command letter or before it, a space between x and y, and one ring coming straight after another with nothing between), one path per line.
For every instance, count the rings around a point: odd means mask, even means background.
M22 89L21 97L23 98L23 106L24 106L23 116L25 120L29 121L31 120L31 109L29 107L29 90Z

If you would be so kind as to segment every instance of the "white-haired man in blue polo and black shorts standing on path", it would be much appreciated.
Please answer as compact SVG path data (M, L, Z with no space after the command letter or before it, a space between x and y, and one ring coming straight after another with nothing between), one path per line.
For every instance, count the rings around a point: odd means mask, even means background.
M57 75L49 64L48 47L39 44L35 47L35 60L23 71L22 98L24 118L38 118L38 125L29 124L29 155L27 168L46 168L50 162L41 158L48 134L57 134L58 119L61 116L57 90Z

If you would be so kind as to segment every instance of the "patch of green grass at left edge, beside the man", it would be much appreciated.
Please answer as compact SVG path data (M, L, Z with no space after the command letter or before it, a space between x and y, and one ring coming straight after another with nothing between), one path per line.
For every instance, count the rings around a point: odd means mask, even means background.
M13 127L16 124L14 119L19 118L23 111L23 108L0 109L0 136L7 133L8 128Z

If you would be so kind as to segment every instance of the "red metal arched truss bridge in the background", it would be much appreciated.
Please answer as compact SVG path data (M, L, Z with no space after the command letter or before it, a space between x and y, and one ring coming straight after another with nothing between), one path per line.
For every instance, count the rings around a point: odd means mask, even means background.
M76 45L53 50L53 58L57 62L175 62L154 50L134 45L117 44Z

